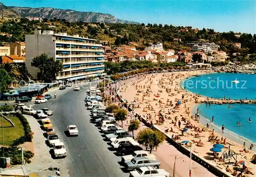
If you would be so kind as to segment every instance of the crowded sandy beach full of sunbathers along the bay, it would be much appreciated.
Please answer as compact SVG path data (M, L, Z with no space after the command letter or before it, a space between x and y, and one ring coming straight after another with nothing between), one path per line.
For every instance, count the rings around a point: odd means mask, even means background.
M208 100L208 98L187 92L181 88L180 82L185 78L204 73L207 72L184 71L140 75L133 79L133 83L121 87L120 94L134 107L137 113L148 118L148 123L157 124L174 138L179 135L177 142L184 140L193 142L193 152L222 169L226 169L227 165L222 163L219 158L230 144L230 149L237 153L237 160L244 160L248 170L253 173L253 175L245 173L243 175L256 176L256 165L250 162L253 154L255 154L254 151L248 150L249 147L247 146L248 152L242 151L243 145L228 139L227 132L224 131L222 134L219 129L212 132L211 127L214 127L212 123L209 122L209 128L207 128L206 125L200 123L198 118L195 118L195 114L193 115L195 105ZM198 110L198 114L200 115L200 110ZM159 117L162 118L159 119ZM185 129L185 126L187 126L187 131L183 131L182 136L182 130ZM209 136L211 141L209 141ZM218 158L214 159L210 148L216 143L223 144L224 148L222 152L219 152ZM184 146L188 147L189 143L184 144ZM236 171L238 167L242 168L243 165L239 164L236 167L229 165L232 171ZM237 172L240 173L240 171Z

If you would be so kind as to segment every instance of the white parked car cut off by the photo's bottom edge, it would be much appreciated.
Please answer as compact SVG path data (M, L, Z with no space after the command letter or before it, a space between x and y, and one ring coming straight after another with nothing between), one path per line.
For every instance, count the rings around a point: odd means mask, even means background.
M170 174L165 171L165 169L156 169L151 166L146 166L146 167L140 167L137 168L134 171L130 171L130 176L131 177L147 177L147 176L166 176L168 177Z

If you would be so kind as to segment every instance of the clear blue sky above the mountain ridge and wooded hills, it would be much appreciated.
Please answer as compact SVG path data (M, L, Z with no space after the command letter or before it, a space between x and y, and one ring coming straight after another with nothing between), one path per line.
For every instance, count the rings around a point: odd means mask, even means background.
M6 6L109 13L139 23L256 33L255 0L0 0Z

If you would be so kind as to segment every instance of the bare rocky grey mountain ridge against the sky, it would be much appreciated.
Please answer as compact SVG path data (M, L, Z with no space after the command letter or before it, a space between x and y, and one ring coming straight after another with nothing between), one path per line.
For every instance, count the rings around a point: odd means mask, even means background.
M4 5L3 5L4 6ZM5 6L6 7L6 6ZM48 19L65 19L69 22L83 21L87 23L126 23L139 24L134 21L118 19L111 14L96 12L79 12L71 9L55 9L49 7L31 8L31 7L6 7L15 12L20 17L36 16Z

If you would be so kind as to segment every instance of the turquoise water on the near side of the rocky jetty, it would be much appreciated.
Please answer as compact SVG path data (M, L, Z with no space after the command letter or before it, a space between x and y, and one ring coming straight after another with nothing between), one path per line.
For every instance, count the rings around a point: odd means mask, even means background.
M232 106L228 108L227 106ZM255 104L200 104L198 106L200 116L211 121L214 116L214 124L219 127L225 126L226 130L232 131L251 142L256 142L256 105ZM248 121L249 117L251 122ZM237 122L241 123L239 127Z

